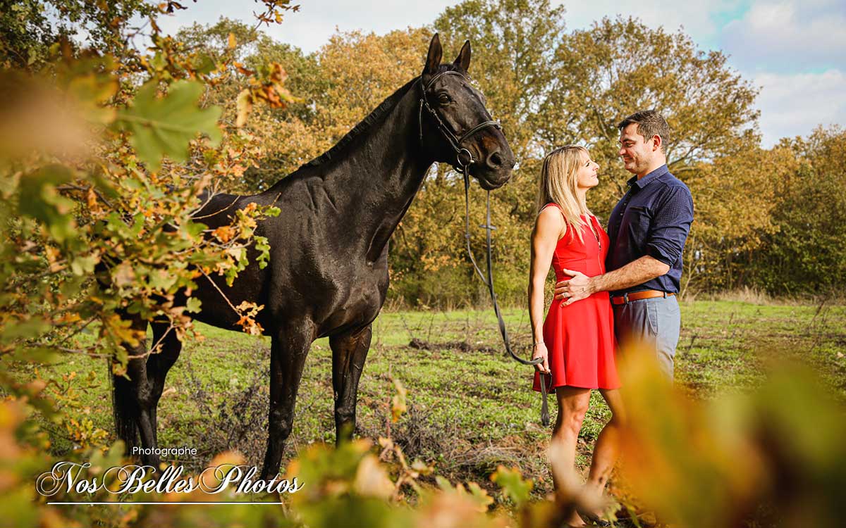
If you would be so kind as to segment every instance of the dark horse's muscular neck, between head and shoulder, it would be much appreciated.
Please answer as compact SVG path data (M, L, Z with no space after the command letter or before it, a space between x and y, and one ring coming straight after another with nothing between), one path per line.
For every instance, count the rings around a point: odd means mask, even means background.
M344 231L365 242L370 262L382 254L433 162L420 145L418 104L412 85L324 177Z

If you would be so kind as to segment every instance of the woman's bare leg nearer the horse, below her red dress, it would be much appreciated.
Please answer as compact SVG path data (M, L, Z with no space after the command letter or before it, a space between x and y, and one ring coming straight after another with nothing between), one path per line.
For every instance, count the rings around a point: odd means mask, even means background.
M563 471L575 471L576 442L579 439L582 421L585 420L585 413L591 404L591 389L558 387L555 389L555 395L558 397L558 417L552 429L552 442L558 444L556 452L563 454L564 457L560 460L559 467L564 468ZM554 473L552 482L556 489L561 485ZM575 512L567 522L572 526L584 525L579 514Z

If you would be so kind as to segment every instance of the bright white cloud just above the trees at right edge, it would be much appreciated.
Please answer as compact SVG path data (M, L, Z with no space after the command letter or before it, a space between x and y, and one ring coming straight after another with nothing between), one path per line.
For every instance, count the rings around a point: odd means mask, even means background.
M761 110L763 146L778 139L808 135L817 125L846 123L846 73L759 73L757 106Z

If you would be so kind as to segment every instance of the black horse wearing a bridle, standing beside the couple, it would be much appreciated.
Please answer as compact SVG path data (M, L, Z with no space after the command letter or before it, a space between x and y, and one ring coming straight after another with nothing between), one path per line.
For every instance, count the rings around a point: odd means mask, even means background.
M387 293L387 242L431 164L467 166L485 189L511 177L514 154L467 76L470 41L454 63L441 64L441 56L434 35L420 77L389 96L331 150L264 193L217 194L195 214L214 229L228 225L247 204L276 204L283 211L261 220L256 230L270 243L265 269L251 251L251 264L233 286L201 277L191 293L202 301L195 318L225 329L239 329L231 306L242 301L265 306L256 318L272 338L262 478L279 470L305 357L319 337L329 336L332 348L336 439L352 438L371 324ZM146 321L130 320L134 329L146 329ZM130 347L130 357L140 357L129 360L128 378L113 378L115 424L127 449L139 433L142 448L157 447L158 400L181 348L167 325L152 328L160 351L145 357L146 343ZM159 462L157 455L141 459Z

